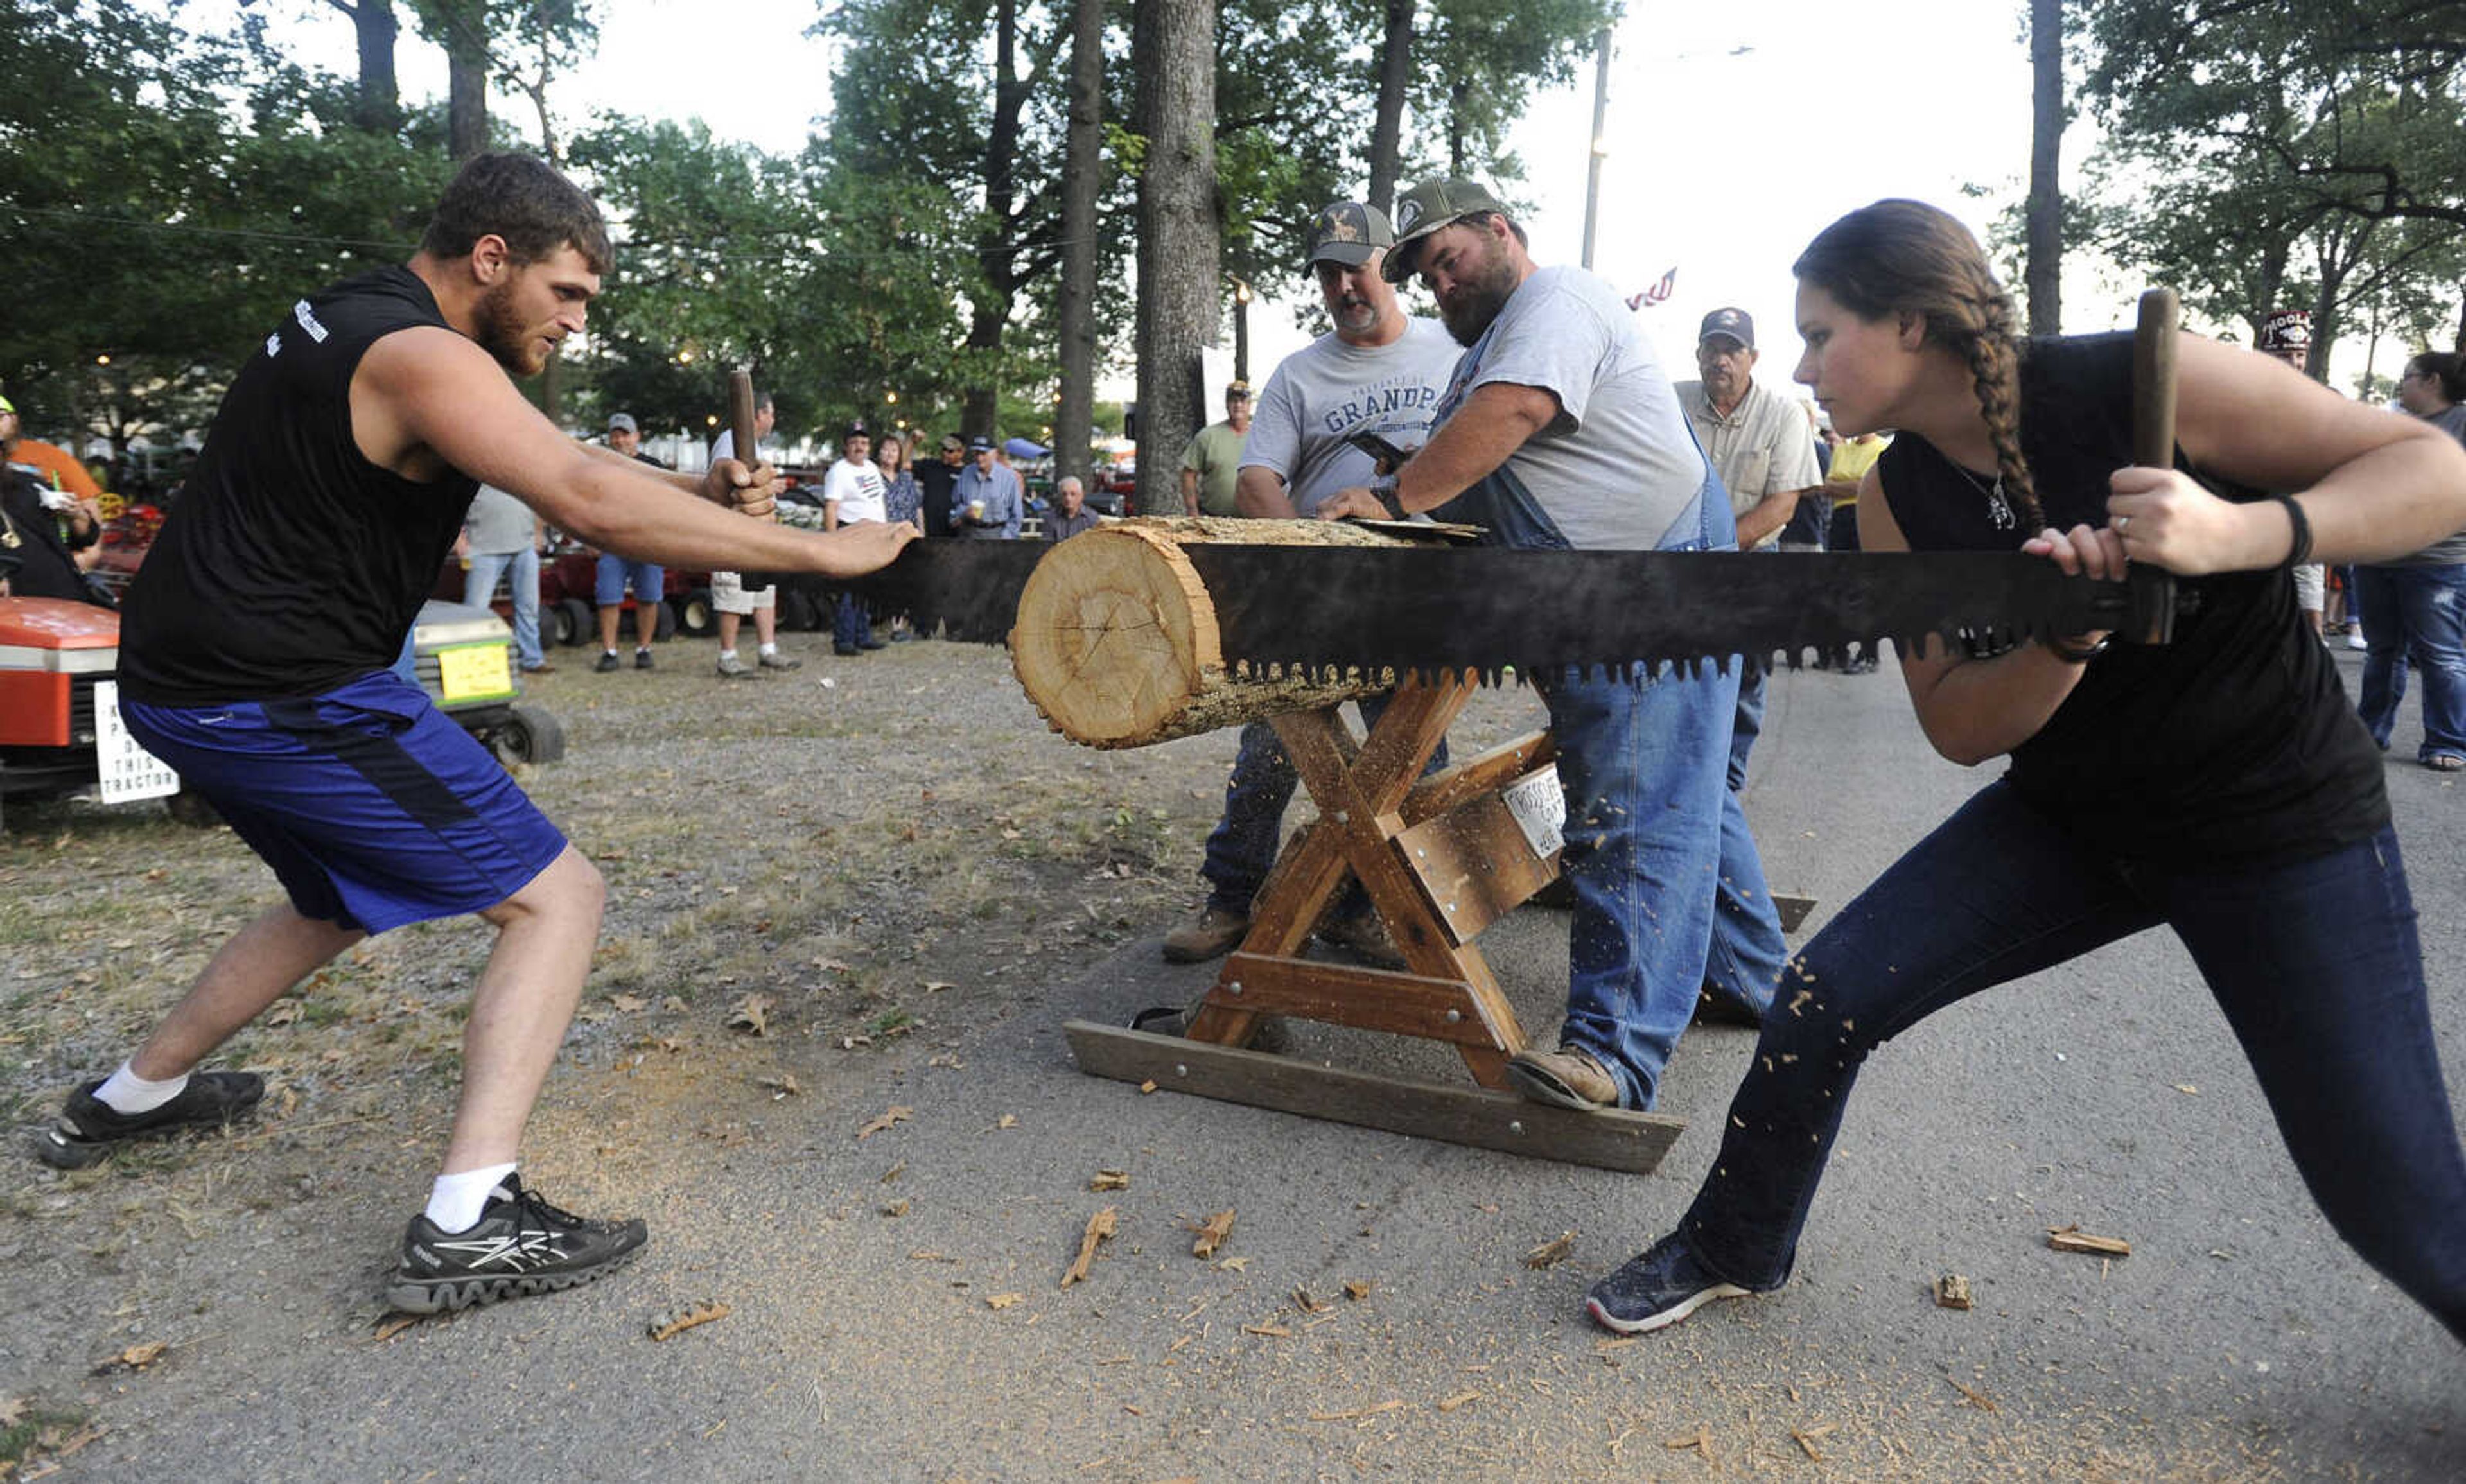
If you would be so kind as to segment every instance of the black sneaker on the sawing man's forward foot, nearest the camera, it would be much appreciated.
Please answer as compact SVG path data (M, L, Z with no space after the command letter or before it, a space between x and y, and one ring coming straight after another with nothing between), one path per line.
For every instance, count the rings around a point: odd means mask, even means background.
M552 1294L616 1272L651 1240L641 1220L582 1220L506 1176L466 1233L441 1233L419 1213L402 1233L402 1262L385 1302L404 1314L469 1309Z

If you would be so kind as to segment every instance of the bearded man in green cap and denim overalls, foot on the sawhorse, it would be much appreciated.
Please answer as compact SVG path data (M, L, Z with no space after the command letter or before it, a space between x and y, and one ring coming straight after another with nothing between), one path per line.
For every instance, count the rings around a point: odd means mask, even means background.
M1440 510L1509 547L1739 545L1635 316L1593 274L1534 264L1487 187L1408 190L1383 274L1418 276L1465 355L1430 441L1393 483L1329 495L1322 518ZM1566 789L1568 1013L1559 1050L1507 1072L1536 1102L1645 1109L1699 996L1761 1018L1780 979L1780 919L1729 791L1739 673L1566 668L1536 685Z

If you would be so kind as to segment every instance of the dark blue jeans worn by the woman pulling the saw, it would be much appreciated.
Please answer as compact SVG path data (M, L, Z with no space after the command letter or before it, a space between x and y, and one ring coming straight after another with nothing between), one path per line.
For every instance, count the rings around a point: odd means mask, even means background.
M2330 1225L2466 1341L2466 1151L2387 828L2291 865L2155 868L1990 784L1790 964L1679 1230L1729 1282L1780 1287L1867 1053L2160 922L2210 981Z

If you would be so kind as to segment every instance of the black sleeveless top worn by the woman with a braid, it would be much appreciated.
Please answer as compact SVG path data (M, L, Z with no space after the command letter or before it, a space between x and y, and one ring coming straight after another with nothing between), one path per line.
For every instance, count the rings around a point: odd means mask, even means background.
M2032 340L2020 372L2022 456L2047 525L2106 525L2106 478L2131 463L2131 335ZM2175 466L2229 500L2259 498ZM1988 498L1926 439L1877 471L1911 550L2012 550ZM2025 523L2017 523L2025 525ZM2390 823L2380 749L2296 611L2286 572L2177 579L2200 611L2175 643L2116 643L2027 742L2010 784L2084 843L2121 858L2261 865L2370 838Z

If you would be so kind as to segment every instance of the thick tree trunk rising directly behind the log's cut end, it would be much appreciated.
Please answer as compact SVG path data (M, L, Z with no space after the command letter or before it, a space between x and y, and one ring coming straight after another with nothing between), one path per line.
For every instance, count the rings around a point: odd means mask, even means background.
M1137 7L1139 510L1181 510L1181 449L1206 426L1198 348L1216 340L1216 7ZM1139 47L1144 39L1144 47Z

